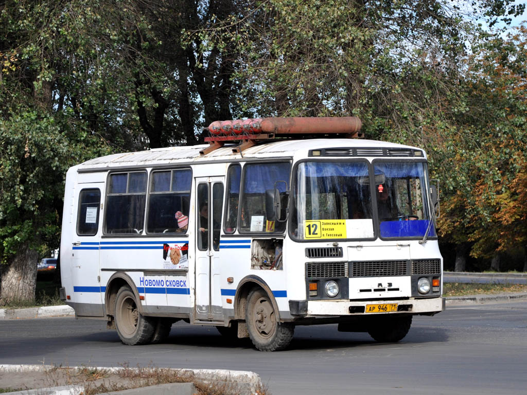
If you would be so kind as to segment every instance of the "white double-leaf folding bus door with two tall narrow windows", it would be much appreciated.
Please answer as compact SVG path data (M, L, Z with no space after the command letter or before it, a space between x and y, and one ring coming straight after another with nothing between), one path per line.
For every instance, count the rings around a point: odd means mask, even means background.
M196 178L196 320L223 321L220 228L223 177Z

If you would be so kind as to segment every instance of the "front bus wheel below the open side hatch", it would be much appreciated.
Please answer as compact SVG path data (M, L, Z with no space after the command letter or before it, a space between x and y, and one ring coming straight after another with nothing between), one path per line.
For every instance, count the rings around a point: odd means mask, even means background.
M260 351L283 350L292 340L294 325L277 321L272 302L261 288L249 293L245 319L252 344Z

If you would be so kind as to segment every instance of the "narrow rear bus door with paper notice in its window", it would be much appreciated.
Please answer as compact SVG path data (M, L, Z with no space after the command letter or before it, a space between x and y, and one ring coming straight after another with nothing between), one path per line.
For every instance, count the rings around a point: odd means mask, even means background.
M102 317L102 289L99 272L99 244L102 231L101 199L104 183L79 183L74 195L76 215L72 226L72 302L80 316ZM75 212L75 211L74 211Z

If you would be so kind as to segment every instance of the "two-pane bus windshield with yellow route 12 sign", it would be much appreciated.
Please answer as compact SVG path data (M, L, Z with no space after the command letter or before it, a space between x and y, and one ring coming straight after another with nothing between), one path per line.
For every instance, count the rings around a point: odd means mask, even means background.
M372 170L373 182L367 161L301 162L293 177L293 238L374 239L374 227L381 238L422 238L426 163L374 161Z

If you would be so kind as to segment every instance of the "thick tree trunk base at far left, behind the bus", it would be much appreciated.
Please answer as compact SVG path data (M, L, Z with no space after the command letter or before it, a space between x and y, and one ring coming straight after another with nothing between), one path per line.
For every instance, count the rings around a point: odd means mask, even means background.
M2 268L0 305L35 300L38 253L23 245Z

